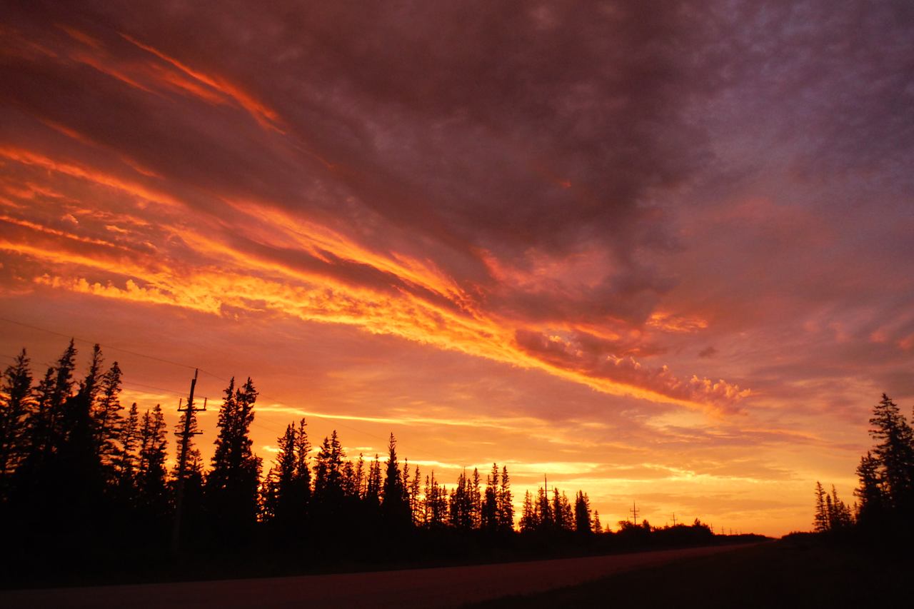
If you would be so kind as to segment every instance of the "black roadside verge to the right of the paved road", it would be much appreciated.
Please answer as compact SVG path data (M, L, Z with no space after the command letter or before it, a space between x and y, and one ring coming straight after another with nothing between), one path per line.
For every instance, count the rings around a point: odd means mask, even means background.
M546 593L469 606L537 607L910 607L914 555L781 540L726 553L666 561Z

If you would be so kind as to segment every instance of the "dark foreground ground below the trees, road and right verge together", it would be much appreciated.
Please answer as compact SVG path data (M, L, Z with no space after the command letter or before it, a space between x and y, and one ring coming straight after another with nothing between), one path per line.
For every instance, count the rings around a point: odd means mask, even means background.
M812 537L393 572L0 591L0 607L901 607L909 552Z

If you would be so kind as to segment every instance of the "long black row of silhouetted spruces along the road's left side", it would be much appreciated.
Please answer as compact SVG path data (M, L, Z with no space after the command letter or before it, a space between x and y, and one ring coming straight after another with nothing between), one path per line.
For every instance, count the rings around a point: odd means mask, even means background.
M36 380L23 348L0 381L6 584L115 581L195 557L214 575L307 572L355 568L353 557L490 561L721 537L697 519L664 528L623 520L613 532L587 493L570 499L545 479L515 514L505 465L464 471L447 487L433 470L401 460L392 433L383 461L352 458L336 432L313 447L304 419L289 422L264 471L250 439L258 398L251 379L228 383L205 465L194 443L193 391L169 430L159 404L122 404L122 370L116 361L105 366L98 345L84 374L76 361L71 340Z

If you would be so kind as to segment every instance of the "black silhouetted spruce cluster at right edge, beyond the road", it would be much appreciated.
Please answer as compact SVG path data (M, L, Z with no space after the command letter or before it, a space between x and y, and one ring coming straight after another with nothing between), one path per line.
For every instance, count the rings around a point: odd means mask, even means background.
M857 465L854 505L846 505L834 486L827 493L816 482L813 529L870 540L914 539L914 430L885 393L869 424L875 443Z

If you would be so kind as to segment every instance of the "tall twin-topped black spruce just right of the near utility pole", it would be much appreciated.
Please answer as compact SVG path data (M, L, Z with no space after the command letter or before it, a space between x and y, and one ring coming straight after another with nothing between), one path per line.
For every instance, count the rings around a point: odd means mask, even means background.
M249 431L257 390L250 378L240 389L235 389L235 379L231 379L225 394L205 503L217 540L238 545L250 540L258 514L260 457L251 450Z

